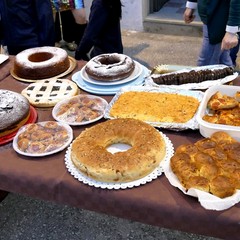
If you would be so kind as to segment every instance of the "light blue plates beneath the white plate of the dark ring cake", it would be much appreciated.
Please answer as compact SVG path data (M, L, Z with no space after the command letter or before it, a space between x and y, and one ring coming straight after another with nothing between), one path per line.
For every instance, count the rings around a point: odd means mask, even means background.
M116 94L122 87L125 86L136 86L143 85L145 77L149 74L149 70L142 65L143 71L142 74L134 79L131 82L113 85L113 86L100 86L88 83L81 78L81 73L76 72L72 76L72 80L78 85L79 88L83 89L86 92L100 95L114 95Z

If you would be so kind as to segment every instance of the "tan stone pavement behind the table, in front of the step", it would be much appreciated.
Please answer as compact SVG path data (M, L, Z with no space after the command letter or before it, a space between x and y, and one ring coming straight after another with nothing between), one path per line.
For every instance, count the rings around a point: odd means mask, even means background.
M146 67L158 64L196 65L199 37L123 31L124 53Z

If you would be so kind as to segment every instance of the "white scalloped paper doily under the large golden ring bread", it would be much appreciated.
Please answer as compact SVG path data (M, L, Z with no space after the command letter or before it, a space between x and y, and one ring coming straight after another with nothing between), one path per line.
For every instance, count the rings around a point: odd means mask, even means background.
M161 161L160 165L149 175L145 176L144 178L141 178L136 181L127 182L127 183L106 183L106 182L99 182L95 181L92 178L87 177L86 175L82 174L73 164L71 161L71 147L70 145L66 151L65 155L65 164L68 169L68 171L71 173L71 175L76 178L78 181L83 182L84 184L88 184L90 186L94 186L97 188L103 188L103 189L126 189L126 188L133 188L138 187L140 185L146 184L148 182L151 182L152 180L156 179L158 176L162 175L164 172L164 166L166 162L169 162L170 158L174 154L174 148L171 140L162 132L159 132L161 136L163 137L166 145L166 155Z

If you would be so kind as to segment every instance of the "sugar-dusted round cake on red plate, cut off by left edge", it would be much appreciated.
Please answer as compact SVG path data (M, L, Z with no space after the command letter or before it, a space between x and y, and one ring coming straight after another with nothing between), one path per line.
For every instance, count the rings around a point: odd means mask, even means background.
M28 100L19 93L0 89L0 137L23 126L30 113Z

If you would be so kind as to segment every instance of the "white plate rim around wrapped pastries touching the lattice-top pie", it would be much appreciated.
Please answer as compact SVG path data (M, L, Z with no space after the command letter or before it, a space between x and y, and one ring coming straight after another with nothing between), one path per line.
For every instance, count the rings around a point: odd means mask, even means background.
M91 104L91 107L89 107L90 109L91 108L94 108L98 113L98 117L97 118L94 118L92 120L88 120L88 121L82 121L82 122L76 122L75 119L73 118L72 120L65 120L64 118L60 117L60 116L57 116L57 113L59 111L59 108L63 105L63 104L66 104L68 103L70 100L75 100L75 99L80 99L81 100L95 100L94 101L94 104L92 105ZM80 102L79 101L79 102ZM98 101L98 103L96 103L96 101ZM86 107L86 105L84 105L84 103L82 103L83 106ZM96 122L98 120L100 120L103 115L104 115L104 111L105 111L105 108L107 107L108 105L108 102L101 98L101 97L97 97L97 96L93 96L93 95L85 95L85 94L80 94L78 96L74 96L74 97L71 97L71 98L68 98L68 99L65 99L65 100L62 100L61 102L58 102L53 110L52 110L52 116L55 120L59 121L59 122L64 122L68 125L72 125L72 126L80 126L80 125L86 125L86 124L90 124L90 123L93 123L93 122ZM70 107L71 108L71 107Z

